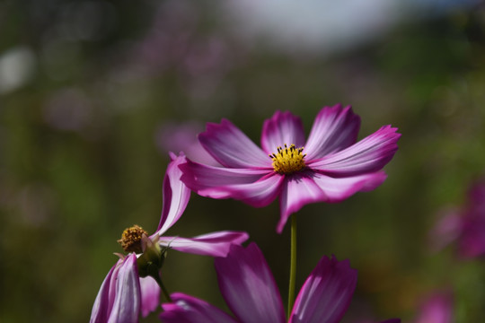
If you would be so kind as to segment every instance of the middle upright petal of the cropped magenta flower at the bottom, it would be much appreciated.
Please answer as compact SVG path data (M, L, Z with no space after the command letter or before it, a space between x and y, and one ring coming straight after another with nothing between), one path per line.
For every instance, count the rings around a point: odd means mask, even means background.
M226 258L215 260L219 289L237 319L250 322L285 322L283 303L273 275L260 249L232 246Z

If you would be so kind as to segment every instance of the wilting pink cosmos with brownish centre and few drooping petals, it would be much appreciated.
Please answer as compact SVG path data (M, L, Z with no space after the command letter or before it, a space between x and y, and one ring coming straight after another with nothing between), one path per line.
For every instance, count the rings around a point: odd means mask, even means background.
M150 237L138 226L123 232L121 244L129 251L128 256L118 260L101 284L93 305L92 323L133 323L138 321L140 312L145 317L158 307L160 287L154 278L140 276L137 265L140 259L151 256L150 252L158 252L158 256L161 256L163 251L160 251L164 247L198 255L225 257L231 245L241 244L248 239L247 233L239 231L218 231L191 239L162 236L179 220L190 197L190 189L180 180L179 165L186 162L186 158L173 154L171 157L172 162L163 179L163 210L158 229Z

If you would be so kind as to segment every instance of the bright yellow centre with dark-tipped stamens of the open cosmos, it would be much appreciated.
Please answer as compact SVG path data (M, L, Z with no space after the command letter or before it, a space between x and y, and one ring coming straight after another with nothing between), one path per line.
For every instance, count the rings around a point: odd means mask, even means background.
M298 170L303 170L306 165L304 164L304 156L306 153L302 153L304 147L295 148L295 144L290 144L288 147L278 147L278 153L270 153L269 157L273 161L273 169L280 174L291 174Z

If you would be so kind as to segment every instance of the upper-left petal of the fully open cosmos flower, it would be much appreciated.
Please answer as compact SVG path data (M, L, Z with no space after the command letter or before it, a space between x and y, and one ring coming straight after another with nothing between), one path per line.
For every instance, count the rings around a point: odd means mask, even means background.
M200 144L217 162L230 168L270 167L271 159L229 120L208 123L207 131L198 135Z

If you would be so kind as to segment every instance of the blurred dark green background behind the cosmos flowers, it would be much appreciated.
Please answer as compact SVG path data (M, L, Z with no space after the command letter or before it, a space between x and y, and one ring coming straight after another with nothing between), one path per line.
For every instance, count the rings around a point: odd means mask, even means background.
M0 2L0 321L89 319L121 232L159 222L178 129L229 118L259 143L277 109L308 132L338 102L359 137L399 127L400 148L380 188L299 213L297 288L335 254L359 272L347 321L410 322L436 290L456 322L484 321L483 260L431 252L428 231L483 175L485 7L360 3ZM278 214L192 194L168 234L248 231L286 300ZM172 251L163 278L225 306L211 258Z

